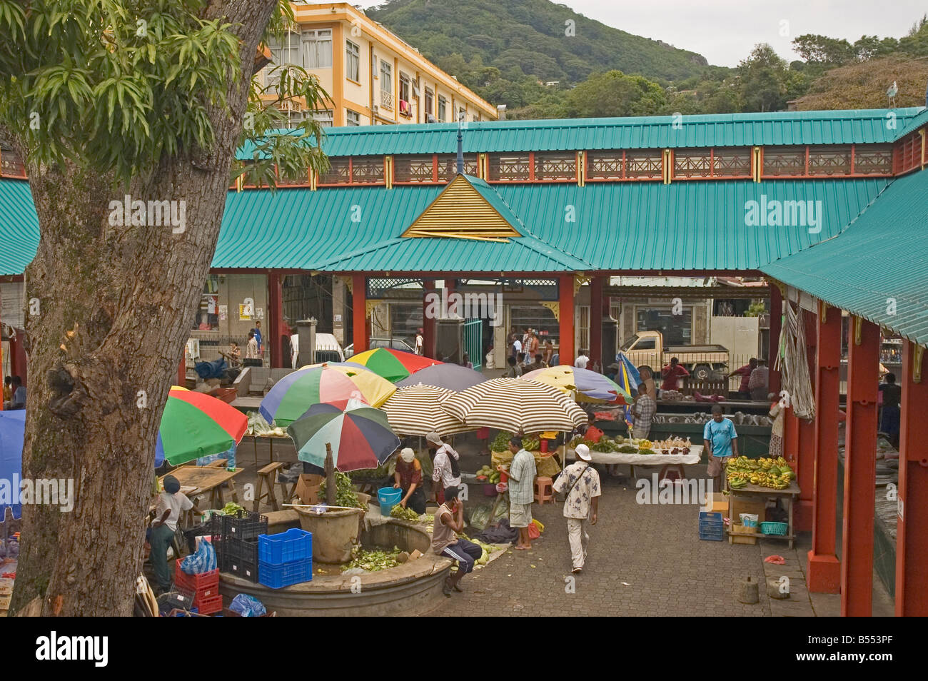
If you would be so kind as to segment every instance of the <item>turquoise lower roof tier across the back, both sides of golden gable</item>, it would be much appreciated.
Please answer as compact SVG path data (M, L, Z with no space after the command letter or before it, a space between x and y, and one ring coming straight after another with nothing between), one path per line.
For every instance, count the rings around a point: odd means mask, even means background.
M213 267L750 270L838 234L886 184L871 179L487 186L524 225L525 236L508 249L459 239L409 238L405 241L416 244L402 247L393 243L444 186L281 189L276 194L253 189L229 192ZM19 274L34 255L38 225L34 210L28 210L28 186L4 180L0 187L0 233L21 236L18 250L7 256L6 273ZM745 225L746 201L760 201L762 195L767 200L820 200L821 231ZM396 260L384 257L391 252ZM399 259L406 256L415 262Z

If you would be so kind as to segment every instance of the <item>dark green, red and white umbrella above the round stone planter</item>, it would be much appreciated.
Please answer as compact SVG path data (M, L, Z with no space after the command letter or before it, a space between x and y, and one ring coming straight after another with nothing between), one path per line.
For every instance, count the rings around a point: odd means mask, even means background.
M342 472L376 469L400 445L387 415L357 400L349 401L345 409L312 405L290 424L287 433L297 457L320 469L326 465L326 444L330 444L332 463Z

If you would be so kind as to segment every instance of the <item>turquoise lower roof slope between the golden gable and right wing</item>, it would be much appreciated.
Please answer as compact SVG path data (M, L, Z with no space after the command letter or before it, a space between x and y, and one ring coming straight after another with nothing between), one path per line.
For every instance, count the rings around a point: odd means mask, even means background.
M750 270L837 234L885 180L496 185L532 234L603 270ZM745 225L749 200L820 200L821 231ZM573 218L574 222L568 222Z

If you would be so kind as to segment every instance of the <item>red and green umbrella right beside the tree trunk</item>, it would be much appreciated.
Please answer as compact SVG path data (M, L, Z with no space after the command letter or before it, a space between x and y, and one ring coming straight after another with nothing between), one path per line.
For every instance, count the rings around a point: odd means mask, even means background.
M176 466L226 452L241 442L247 429L248 417L232 405L174 385L161 415L155 467L164 459Z

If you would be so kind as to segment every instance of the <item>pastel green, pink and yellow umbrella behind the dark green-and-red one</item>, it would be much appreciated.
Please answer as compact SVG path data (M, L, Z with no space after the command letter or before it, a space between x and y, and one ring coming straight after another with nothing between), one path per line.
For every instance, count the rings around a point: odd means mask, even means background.
M355 399L380 406L396 392L395 386L366 369L344 366L306 366L275 383L261 401L261 416L281 428L303 416L312 405L329 403L344 409Z

